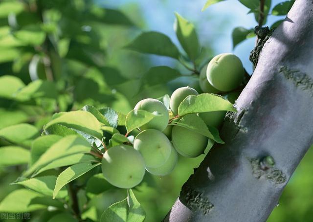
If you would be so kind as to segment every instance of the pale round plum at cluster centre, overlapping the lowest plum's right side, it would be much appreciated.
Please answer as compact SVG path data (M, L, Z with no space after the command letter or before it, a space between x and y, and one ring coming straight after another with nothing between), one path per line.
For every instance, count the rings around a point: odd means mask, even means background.
M146 167L160 167L171 154L171 141L158 130L149 129L134 139L134 148L142 155Z

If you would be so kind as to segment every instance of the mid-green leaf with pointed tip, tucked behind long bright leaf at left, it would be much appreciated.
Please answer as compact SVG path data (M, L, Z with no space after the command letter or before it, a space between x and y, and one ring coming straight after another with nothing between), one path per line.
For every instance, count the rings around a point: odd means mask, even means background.
M31 145L31 161L30 165L34 164L41 155L43 155L50 146L59 141L62 136L59 135L45 135L36 138Z

